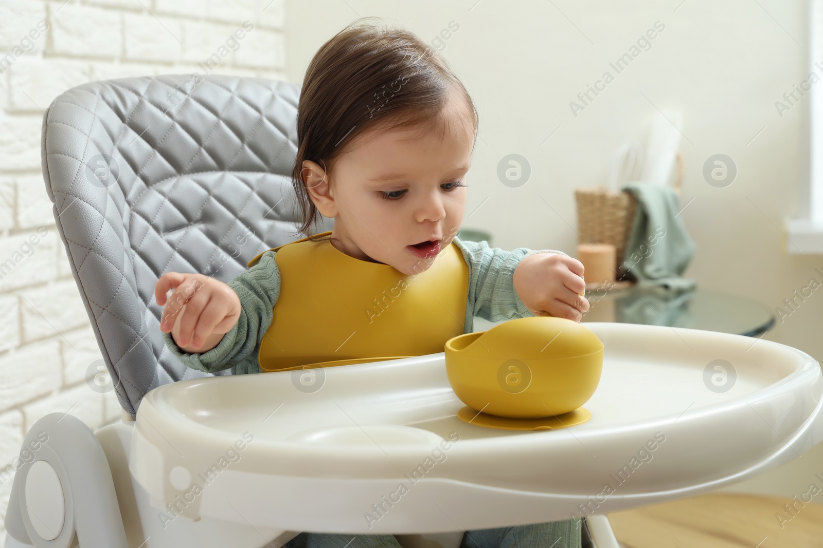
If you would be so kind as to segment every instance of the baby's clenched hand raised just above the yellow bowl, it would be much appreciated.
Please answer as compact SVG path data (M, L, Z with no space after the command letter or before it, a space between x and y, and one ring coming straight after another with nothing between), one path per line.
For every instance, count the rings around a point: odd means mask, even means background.
M514 291L533 315L553 315L579 322L588 311L583 263L559 253L535 253L514 269Z

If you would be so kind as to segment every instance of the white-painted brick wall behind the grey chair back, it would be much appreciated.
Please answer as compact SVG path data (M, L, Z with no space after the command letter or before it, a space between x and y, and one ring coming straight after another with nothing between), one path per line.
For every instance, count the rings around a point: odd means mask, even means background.
M102 357L40 173L44 109L86 81L202 72L208 58L218 73L286 79L285 0L63 2L0 2L0 546L30 427L50 412L93 430L120 420L114 392L86 386Z

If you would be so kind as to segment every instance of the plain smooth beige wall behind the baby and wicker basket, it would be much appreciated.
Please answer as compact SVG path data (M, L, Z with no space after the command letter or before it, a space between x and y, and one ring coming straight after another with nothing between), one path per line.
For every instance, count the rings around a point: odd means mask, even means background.
M301 0L286 5L287 71L301 82L317 48L358 16L382 17L430 44L452 21L459 25L443 54L481 117L466 211L480 208L464 226L490 230L493 245L504 249L574 254L572 189L606 182L616 148L627 140L645 143L657 108L679 109L686 164L681 203L694 198L681 216L698 247L686 275L700 287L774 310L812 276L823 282L814 272L823 269L823 256L788 255L780 232L783 218L806 207L808 100L783 117L774 106L807 77L805 9L798 0ZM652 47L574 117L570 101L655 21L665 29ZM523 187L505 187L495 175L500 158L511 153L532 166ZM737 179L726 188L702 176L704 161L718 153L737 164ZM820 361L821 331L823 290L765 338ZM823 444L739 488L793 496L821 471Z

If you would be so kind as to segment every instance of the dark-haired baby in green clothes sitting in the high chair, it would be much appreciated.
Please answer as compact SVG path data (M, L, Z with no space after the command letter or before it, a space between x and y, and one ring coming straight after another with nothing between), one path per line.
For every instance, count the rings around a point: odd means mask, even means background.
M264 251L255 258L259 259L256 264L229 283L202 274L164 274L157 281L155 297L159 306L165 305L160 330L170 351L201 371L231 367L239 375L277 369L277 364L260 363L265 355L260 352L261 343L267 334L271 338L270 329L282 318L282 314L275 315L278 297L285 308L277 310L294 309L283 301L281 282L290 279L285 275L286 265L291 273L300 274L295 270L300 255L294 251L287 255L283 250L297 250L296 246L305 245L300 242L307 241L327 246L318 249L324 249L336 265L345 263L357 272L388 273L394 279L412 279L412 284L418 283L414 280L418 276L425 283L429 270L458 273L450 276L457 278L458 285L448 287L466 290L453 295L450 302L459 306L465 302L465 315L463 311L451 314L457 332L428 341L431 348L439 348L431 352L442 352L446 340L455 334L471 332L476 315L491 321L530 315L579 321L589 305L580 295L585 283L578 260L561 251L523 247L502 251L486 242L464 242L456 237L463 223L465 177L477 122L477 111L463 84L416 35L362 21L337 33L309 64L297 114L298 150L292 182L302 210L300 233L309 237ZM334 228L325 239L311 232L319 214L334 219ZM459 269L444 271L447 261ZM328 279L335 274L323 273ZM294 292L302 280L299 276L291 279L295 283L289 291ZM282 286L284 291L289 287L288 283ZM311 288L317 286L302 283L302 287L305 293L298 297L309 299L314 292ZM167 297L170 289L175 291ZM440 315L445 316L443 311ZM312 316L306 317L311 321ZM412 320L428 323L422 321L428 318ZM281 325L300 321L301 316L290 315ZM315 328L309 323L295 329ZM281 342L285 346L286 341ZM401 342L388 341L392 343ZM416 355L424 353L429 352ZM399 354L402 351L388 355ZM462 547L580 546L579 527L579 519L570 519L468 531ZM400 545L393 535L303 532L286 548L315 546Z

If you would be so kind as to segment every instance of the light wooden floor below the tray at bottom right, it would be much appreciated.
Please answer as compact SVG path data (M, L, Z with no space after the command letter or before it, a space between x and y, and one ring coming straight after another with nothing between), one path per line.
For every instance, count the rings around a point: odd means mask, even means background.
M823 492L805 506L799 495L795 501L711 494L647 504L608 518L625 548L823 548L823 504L816 504L821 500ZM783 504L795 509L789 513Z

